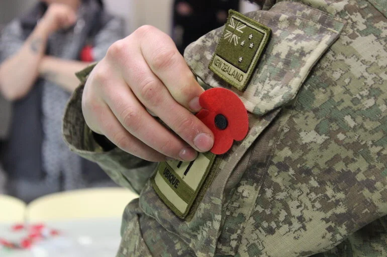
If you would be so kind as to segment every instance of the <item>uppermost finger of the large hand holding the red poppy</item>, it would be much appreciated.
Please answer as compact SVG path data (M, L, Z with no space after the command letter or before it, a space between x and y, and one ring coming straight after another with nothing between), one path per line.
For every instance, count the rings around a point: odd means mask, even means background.
M153 30L157 29L149 26L141 38L140 47L145 61L176 102L193 112L199 111L199 96L204 89L177 51L172 39L165 33L156 33Z

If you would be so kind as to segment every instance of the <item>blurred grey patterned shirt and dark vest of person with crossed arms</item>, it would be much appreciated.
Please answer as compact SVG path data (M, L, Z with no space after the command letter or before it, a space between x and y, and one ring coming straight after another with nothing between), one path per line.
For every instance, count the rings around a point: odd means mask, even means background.
M51 35L46 55L80 60L82 49L91 45L95 61L105 56L109 46L123 37L123 23L97 2L82 2L76 25ZM46 9L39 3L4 29L0 62L18 52ZM98 165L67 150L60 131L69 96L58 85L38 79L26 97L12 103L10 134L1 146L1 163L8 175L7 193L28 202L61 190L114 185Z

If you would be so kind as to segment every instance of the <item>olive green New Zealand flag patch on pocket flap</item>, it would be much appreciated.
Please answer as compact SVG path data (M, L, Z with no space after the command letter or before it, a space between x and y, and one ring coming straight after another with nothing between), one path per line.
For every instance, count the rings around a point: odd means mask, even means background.
M233 10L209 68L239 91L246 89L271 30Z

